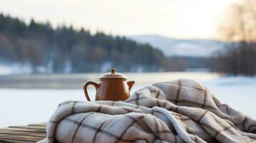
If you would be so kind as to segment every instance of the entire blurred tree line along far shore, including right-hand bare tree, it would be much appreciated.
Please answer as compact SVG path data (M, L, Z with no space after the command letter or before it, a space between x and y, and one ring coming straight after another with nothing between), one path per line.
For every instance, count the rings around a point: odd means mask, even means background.
M256 74L256 8L254 0L234 4L219 27L226 49L211 58L166 57L149 44L103 32L91 34L72 26L24 21L0 14L0 63L29 65L34 73L118 71L184 71L211 69L225 74ZM206 47L207 48L207 47Z

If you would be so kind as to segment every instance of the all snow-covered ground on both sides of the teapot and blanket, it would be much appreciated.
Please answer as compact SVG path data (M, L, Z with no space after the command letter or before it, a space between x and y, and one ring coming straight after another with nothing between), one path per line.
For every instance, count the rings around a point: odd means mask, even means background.
M256 77L201 80L217 98L256 119ZM140 89L142 85L133 88ZM93 98L95 94L90 89ZM81 89L0 89L0 127L47 122L60 102L85 100Z

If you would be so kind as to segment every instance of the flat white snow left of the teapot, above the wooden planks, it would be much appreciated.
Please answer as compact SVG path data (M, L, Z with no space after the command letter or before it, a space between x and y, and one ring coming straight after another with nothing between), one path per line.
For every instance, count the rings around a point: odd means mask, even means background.
M85 100L79 89L0 89L0 127L47 122L57 105Z

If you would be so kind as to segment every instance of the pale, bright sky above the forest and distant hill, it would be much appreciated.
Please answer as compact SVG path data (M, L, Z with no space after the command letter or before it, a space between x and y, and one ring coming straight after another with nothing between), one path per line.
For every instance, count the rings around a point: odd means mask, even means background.
M217 39L219 16L238 0L0 0L0 12L24 21L72 24L113 35Z

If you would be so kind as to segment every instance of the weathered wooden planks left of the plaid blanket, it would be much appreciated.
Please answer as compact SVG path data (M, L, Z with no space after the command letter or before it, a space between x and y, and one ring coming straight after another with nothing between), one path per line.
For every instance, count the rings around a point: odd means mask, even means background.
M0 142L32 143L46 137L46 124L28 124L0 129Z

